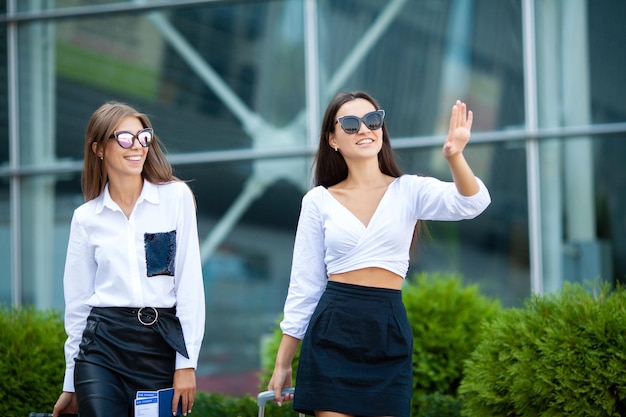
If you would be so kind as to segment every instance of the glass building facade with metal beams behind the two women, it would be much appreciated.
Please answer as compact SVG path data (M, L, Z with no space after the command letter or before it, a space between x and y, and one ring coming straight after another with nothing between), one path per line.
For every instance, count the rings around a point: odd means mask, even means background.
M450 108L475 114L466 157L492 204L431 222L409 275L458 273L506 306L565 281L622 281L625 17L622 0L6 0L0 304L63 308L87 120L128 102L197 197L199 388L256 391L321 113L357 89L386 110L407 173L450 179Z

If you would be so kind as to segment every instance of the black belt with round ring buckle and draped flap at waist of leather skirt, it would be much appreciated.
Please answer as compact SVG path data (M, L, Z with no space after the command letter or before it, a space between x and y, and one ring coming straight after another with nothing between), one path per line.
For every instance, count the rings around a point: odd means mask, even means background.
M168 345L189 359L183 328L176 316L176 307L93 307L91 313L118 320L138 321L146 327L151 327Z

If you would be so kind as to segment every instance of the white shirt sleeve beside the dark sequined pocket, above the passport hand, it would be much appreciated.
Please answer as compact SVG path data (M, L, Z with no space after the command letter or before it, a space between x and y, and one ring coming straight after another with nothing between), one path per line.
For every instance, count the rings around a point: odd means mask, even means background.
M196 203L189 186L181 183L176 226L176 315L180 320L189 359L176 353L176 369L196 368L206 317L202 261L198 241Z

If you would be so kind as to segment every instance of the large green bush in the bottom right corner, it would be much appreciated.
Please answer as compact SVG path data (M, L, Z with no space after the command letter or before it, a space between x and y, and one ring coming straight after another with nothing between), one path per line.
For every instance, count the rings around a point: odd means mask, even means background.
M488 326L466 363L463 415L626 415L626 292L565 284Z

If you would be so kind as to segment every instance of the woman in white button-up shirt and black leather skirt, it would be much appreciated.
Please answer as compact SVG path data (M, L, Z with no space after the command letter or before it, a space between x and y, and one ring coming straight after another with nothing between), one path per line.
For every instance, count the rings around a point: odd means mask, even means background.
M137 391L174 388L191 412L204 336L195 198L145 114L109 102L85 134L65 261L66 372L53 416L133 416Z

